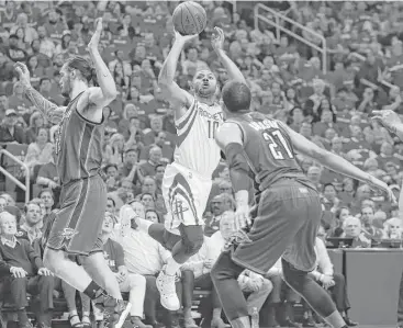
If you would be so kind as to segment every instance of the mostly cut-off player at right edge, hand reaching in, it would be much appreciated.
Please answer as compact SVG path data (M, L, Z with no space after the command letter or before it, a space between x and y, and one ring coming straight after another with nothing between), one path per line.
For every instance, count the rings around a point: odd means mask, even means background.
M400 116L391 111L391 110L383 110L383 111L373 111L374 116L372 120L378 121L382 124L385 128L388 128L391 133L395 134L398 138L403 142L403 123ZM399 218L403 219L403 191L401 191L399 195ZM398 303L398 328L403 328L403 272L402 278L400 280L400 287L399 287L399 303Z

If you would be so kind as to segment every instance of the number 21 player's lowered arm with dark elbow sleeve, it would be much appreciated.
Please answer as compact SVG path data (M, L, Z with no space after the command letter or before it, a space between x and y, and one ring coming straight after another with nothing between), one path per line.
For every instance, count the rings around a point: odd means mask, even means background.
M240 128L234 123L224 123L215 133L215 142L225 154L230 178L235 191L237 228L251 224L249 218L249 166L244 156L244 140Z

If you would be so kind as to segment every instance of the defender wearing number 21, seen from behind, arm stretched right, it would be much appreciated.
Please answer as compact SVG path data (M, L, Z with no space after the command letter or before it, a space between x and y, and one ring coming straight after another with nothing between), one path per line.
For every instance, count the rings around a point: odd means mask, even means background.
M222 91L227 121L215 135L230 165L236 193L235 220L246 229L239 241L221 255L212 278L233 327L250 327L247 306L237 276L245 269L265 274L282 257L287 283L333 327L347 327L326 291L309 272L315 267L315 236L322 205L320 194L295 160L295 151L334 171L381 189L393 199L388 185L345 159L328 152L283 123L251 113L250 90L230 81ZM256 210L249 217L249 176L255 180ZM245 238L242 238L244 235Z

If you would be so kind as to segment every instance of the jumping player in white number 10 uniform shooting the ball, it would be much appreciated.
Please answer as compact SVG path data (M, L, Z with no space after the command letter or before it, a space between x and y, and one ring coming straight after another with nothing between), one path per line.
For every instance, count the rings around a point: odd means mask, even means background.
M167 166L163 181L168 216L164 225L135 218L141 229L171 250L172 257L157 279L161 304L170 310L180 307L175 290L176 273L203 245L202 215L212 185L212 173L221 158L214 135L223 123L223 111L216 102L217 81L214 73L210 70L197 71L191 82L193 94L179 88L173 80L183 46L195 36L182 36L175 32L175 43L158 78L160 88L175 109L178 134L175 160ZM240 70L223 50L224 38L224 32L215 27L212 46L230 77L245 82Z

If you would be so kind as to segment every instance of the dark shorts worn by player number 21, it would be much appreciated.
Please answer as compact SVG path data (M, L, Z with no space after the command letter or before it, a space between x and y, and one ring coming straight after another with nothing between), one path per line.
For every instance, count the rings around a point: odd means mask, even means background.
M315 267L315 238L322 204L317 191L294 180L281 180L265 190L248 237L232 250L235 263L266 274L282 257L298 270Z

